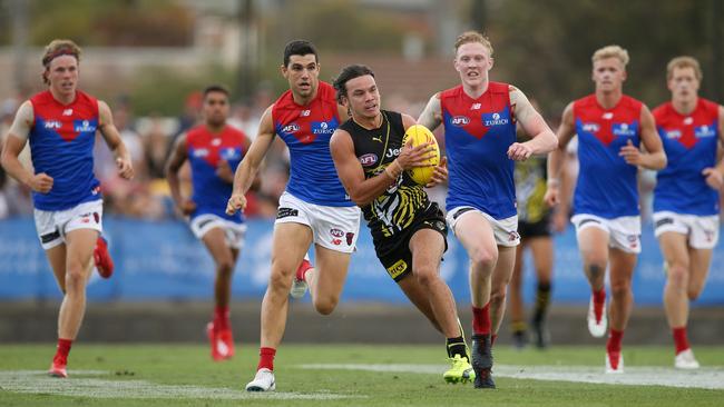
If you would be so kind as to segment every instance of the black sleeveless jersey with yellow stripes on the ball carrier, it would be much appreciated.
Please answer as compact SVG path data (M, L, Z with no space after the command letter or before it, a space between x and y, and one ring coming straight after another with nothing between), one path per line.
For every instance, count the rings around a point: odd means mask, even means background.
M384 168L398 158L402 148L402 116L382 110L382 125L373 130L361 127L352 119L340 126L352 136L354 153L364 169L365 179L384 171ZM375 248L392 246L385 242L397 239L402 231L414 225L415 216L429 206L430 200L424 189L413 181L407 171L402 171L394 185L362 208Z

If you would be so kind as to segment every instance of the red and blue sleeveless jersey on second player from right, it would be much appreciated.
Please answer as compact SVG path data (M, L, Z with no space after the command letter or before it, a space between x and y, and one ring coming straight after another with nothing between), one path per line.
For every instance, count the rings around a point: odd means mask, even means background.
M613 109L598 105L595 95L574 101L580 171L574 195L574 212L605 219L638 216L636 166L618 153L630 140L640 145L643 103L628 96Z

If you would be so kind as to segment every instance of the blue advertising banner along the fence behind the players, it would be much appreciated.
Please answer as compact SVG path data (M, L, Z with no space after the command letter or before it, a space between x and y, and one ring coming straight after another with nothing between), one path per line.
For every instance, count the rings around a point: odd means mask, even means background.
M111 279L94 274L88 286L92 300L186 300L212 298L214 264L204 246L180 221L151 222L104 219L104 235L116 262ZM235 300L261 300L270 274L273 221L252 220L233 284ZM663 260L650 225L644 226L643 252L634 274L634 296L639 305L661 305ZM313 251L313 250L312 250ZM311 252L312 257L314 256ZM535 274L530 255L525 258L524 296L530 301ZM40 248L32 219L0 221L0 300L60 298L48 261ZM724 305L724 272L717 266L724 250L714 251L707 286L699 305ZM454 237L441 275L460 304L469 302L468 258ZM554 302L588 302L590 289L581 270L573 228L555 237ZM344 287L343 300L407 302L407 298L378 261L372 239L362 227L358 250Z

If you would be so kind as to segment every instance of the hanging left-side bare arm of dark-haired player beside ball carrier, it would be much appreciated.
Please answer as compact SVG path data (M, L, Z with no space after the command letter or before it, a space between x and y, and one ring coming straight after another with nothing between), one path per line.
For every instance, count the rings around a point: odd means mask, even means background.
M228 215L234 215L237 210L244 210L246 207L246 191L252 187L262 160L272 147L272 142L274 142L273 107L274 105L264 111L256 138L252 141L242 163L236 168L236 173L234 173L234 189L226 205L226 214Z

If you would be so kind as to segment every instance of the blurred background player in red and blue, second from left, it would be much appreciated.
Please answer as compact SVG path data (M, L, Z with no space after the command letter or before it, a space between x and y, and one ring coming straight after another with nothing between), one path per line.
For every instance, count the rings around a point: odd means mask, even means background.
M228 90L222 86L209 86L203 95L204 123L176 140L166 165L166 175L174 202L189 217L192 231L214 258L215 308L214 318L206 330L212 358L224 360L234 356L228 302L232 275L246 231L242 214L226 215L226 199L232 193L234 170L248 150L250 141L243 132L226 123ZM186 160L192 169L190 199L182 197L178 179L178 171Z

